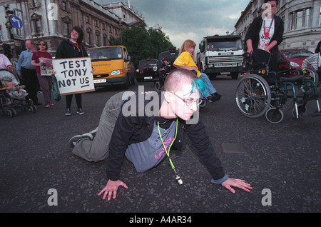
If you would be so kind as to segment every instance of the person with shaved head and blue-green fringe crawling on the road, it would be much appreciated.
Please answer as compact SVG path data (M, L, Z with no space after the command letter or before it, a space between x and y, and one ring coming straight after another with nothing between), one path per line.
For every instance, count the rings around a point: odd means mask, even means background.
M98 128L70 140L76 156L87 161L107 158L108 180L98 196L103 195L103 199L107 197L109 201L116 198L119 186L128 188L120 176L124 156L136 171L148 171L165 156L170 161L170 148L173 145L180 150L184 136L190 138L200 160L208 168L212 183L221 184L232 193L235 193L232 186L250 191L250 184L229 178L225 173L205 126L198 118L198 104L204 93L205 85L195 74L175 69L165 79L164 91L131 93L131 96L122 92L112 96L103 109ZM173 162L170 164L175 173ZM179 176L175 177L181 183Z

